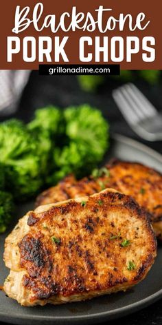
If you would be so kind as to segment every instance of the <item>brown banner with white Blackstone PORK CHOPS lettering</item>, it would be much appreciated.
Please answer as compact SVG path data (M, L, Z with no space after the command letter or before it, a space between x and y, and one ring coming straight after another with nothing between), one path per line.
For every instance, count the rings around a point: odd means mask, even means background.
M60 63L160 70L159 6L159 0L6 0L0 69Z

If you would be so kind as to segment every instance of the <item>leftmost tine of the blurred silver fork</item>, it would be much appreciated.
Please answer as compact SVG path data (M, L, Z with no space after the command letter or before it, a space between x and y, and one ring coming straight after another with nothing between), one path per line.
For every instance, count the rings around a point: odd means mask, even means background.
M126 98L124 98L122 92L118 88L117 90L113 90L112 94L115 103L120 108L127 122L130 125L135 125L139 121L139 117L137 116L137 114L135 114L134 110L129 105L128 101L126 101Z

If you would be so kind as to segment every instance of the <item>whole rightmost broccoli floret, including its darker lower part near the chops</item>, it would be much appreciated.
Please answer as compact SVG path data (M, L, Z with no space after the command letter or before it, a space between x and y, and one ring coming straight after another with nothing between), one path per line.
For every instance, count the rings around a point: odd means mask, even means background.
M89 105L65 110L67 145L54 150L56 171L48 182L57 182L73 172L78 178L91 173L108 148L108 123Z

